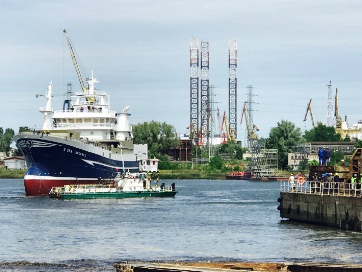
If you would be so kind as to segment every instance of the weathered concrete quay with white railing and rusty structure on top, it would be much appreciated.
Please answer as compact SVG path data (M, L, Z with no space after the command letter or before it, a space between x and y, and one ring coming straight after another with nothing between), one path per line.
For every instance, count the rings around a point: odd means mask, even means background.
M337 174L339 182L321 181L323 173ZM313 182L317 174L318 181ZM281 182L278 202L280 217L341 229L362 231L362 189L351 185L353 175L362 174L362 148L357 148L350 165L310 166L308 180L291 192L288 180Z

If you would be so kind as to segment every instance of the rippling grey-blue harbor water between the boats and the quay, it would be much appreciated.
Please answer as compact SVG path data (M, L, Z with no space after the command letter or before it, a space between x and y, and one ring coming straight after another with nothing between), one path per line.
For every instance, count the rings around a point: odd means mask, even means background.
M279 182L175 182L171 198L53 200L1 179L0 271L20 261L28 271L35 262L44 271L136 260L362 263L359 232L281 219Z

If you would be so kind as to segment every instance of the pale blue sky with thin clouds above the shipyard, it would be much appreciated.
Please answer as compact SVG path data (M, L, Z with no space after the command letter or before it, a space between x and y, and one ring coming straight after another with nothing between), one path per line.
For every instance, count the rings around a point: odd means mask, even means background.
M228 40L237 40L238 140L246 141L239 122L248 85L261 137L282 119L311 129L309 116L303 122L310 98L315 122L326 123L329 81L343 120L357 123L361 14L362 2L348 0L2 0L0 126L40 127L46 101L35 95L51 81L54 109L62 109L68 82L80 91L62 29L84 77L93 70L113 110L129 105L132 124L155 120L187 132L190 38L209 41L209 81L221 112L228 111Z

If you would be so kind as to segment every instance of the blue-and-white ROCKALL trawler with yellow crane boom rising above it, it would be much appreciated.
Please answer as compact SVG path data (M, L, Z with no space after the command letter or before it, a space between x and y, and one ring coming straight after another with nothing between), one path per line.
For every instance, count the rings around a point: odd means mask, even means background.
M14 136L23 153L28 196L48 195L51 188L67 184L92 184L119 172L157 171L158 160L147 159L147 145L132 142L128 106L121 113L110 109L109 95L95 88L92 76L85 86L70 39L63 30L82 87L67 109L53 111L52 83L48 85L42 129Z

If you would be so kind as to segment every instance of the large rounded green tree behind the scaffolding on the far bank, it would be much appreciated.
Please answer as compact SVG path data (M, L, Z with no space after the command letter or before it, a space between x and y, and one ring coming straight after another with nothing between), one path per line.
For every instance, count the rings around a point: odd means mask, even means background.
M269 138L266 139L267 149L277 149L278 167L286 169L288 164L288 153L293 152L295 145L305 142L302 138L300 128L296 128L294 123L282 120L276 127L270 130Z

